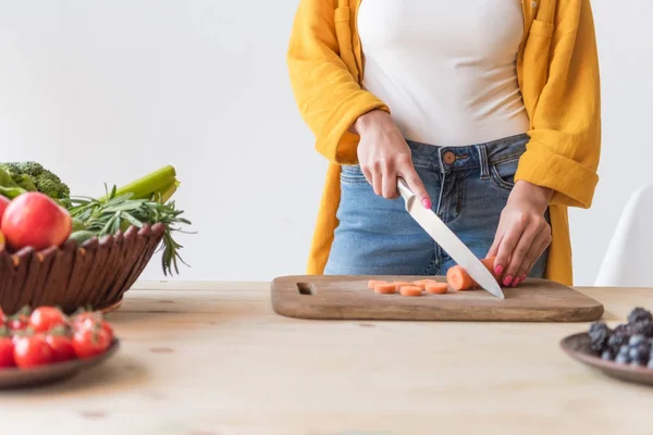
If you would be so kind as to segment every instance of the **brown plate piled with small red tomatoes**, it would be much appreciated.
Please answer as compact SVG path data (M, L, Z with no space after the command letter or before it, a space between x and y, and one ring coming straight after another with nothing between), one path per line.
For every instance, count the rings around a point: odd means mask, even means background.
M120 340L97 311L65 315L56 307L0 310L0 388L71 377L111 357Z

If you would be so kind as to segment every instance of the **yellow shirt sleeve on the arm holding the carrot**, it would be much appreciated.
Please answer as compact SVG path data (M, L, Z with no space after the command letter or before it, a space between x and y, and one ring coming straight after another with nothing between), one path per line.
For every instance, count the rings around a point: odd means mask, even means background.
M546 84L515 179L554 190L552 204L589 208L599 182L601 96L589 0L558 0Z

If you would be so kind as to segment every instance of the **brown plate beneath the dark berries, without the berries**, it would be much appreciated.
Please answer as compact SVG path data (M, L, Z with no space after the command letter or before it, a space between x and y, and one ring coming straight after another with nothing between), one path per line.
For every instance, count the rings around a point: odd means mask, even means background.
M608 376L637 384L653 385L653 369L602 360L591 350L590 336L587 333L574 334L564 338L560 347L575 360Z

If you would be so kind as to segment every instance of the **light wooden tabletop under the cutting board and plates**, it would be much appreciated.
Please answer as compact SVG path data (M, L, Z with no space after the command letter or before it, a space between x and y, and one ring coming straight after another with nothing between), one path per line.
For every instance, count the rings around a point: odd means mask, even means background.
M653 433L653 388L559 349L587 324L299 321L273 313L268 288L139 283L111 314L119 353L0 393L2 433ZM653 308L653 289L581 290L611 323Z

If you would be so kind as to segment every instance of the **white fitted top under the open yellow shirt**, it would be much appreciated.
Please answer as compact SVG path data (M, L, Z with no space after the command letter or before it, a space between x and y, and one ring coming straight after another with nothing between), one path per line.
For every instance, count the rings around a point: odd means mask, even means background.
M465 146L526 133L520 0L362 0L362 87L407 139Z

